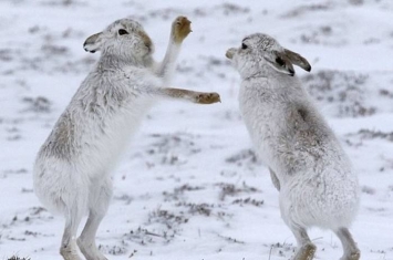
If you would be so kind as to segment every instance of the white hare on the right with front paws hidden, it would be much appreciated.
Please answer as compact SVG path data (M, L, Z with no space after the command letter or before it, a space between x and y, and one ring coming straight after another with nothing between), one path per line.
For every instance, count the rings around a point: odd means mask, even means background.
M332 129L313 105L292 64L311 66L267 34L246 37L226 56L239 71L239 105L252 143L280 193L281 216L293 232L294 260L311 260L310 227L331 229L342 260L360 251L348 227L359 207L358 177Z

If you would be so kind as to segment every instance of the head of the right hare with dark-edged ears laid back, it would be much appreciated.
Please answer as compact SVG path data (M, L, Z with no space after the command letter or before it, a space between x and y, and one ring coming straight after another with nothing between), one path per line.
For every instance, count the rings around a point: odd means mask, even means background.
M261 74L266 67L293 76L293 64L311 71L311 65L304 58L282 48L273 38L263 33L246 37L240 48L229 49L226 56L231 60L241 77Z

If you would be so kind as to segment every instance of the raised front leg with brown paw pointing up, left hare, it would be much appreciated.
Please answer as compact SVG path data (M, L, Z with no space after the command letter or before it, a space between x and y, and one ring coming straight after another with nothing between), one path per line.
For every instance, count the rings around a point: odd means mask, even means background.
M156 64L155 73L164 79L166 84L169 83L170 76L176 69L176 60L180 52L184 39L192 32L190 21L186 17L177 17L172 23L168 48L164 60Z

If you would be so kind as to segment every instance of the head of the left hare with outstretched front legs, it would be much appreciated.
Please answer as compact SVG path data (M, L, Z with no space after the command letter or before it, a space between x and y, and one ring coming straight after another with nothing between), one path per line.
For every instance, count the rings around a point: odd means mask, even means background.
M131 63L145 63L151 60L154 45L142 25L131 19L121 19L110 24L104 31L86 39L85 51L101 51L115 55Z

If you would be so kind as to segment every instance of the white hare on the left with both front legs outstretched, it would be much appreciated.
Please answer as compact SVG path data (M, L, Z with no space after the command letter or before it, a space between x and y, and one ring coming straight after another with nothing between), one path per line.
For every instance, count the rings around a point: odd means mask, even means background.
M42 145L34 165L34 191L53 211L65 217L60 253L65 260L105 260L95 235L112 197L111 170L137 129L147 110L163 98L198 104L219 102L217 93L166 87L190 22L178 17L172 25L162 63L152 58L153 43L141 24L122 19L84 43L101 51L93 71L83 81ZM75 242L84 215L87 222Z

